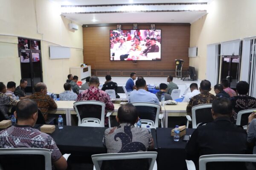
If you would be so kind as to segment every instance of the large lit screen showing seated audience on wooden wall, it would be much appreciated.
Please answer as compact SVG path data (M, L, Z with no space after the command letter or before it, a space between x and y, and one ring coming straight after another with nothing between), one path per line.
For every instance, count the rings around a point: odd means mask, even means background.
M110 30L110 60L161 60L161 30Z

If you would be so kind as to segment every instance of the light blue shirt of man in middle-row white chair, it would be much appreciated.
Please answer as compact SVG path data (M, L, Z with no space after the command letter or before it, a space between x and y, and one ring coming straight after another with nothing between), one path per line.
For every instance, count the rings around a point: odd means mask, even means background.
M155 94L145 91L144 89L132 91L129 96L129 102L150 102L160 104Z

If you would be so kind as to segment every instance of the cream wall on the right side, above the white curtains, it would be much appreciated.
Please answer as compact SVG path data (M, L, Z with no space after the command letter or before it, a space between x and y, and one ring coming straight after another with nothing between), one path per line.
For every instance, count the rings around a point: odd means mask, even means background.
M213 0L208 14L191 24L190 46L198 46L198 57L189 65L206 78L207 45L256 36L256 0Z

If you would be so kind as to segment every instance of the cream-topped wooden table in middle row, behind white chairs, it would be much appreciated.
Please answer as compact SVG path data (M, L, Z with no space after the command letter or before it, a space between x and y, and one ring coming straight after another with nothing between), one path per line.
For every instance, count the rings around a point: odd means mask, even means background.
M71 115L76 115L76 111L73 108L73 103L75 101L56 101L58 108L55 110L49 110L49 114L65 114L66 125L74 125ZM116 116L116 113L121 106L118 103L113 103L114 111L112 111L111 116ZM169 116L184 116L186 115L187 102L178 102L177 105L165 105L161 106L160 114L163 114L163 124L164 127L168 127L168 117Z

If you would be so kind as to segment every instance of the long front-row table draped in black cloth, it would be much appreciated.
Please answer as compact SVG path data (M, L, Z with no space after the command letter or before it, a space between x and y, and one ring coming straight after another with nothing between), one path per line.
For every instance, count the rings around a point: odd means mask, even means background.
M107 153L102 143L106 128L64 126L63 129L56 127L55 131L49 135L55 140L62 154L71 153L72 161L75 157L76 161L78 158L83 158L80 159L81 162L91 163L91 155ZM186 142L182 140L183 138L175 142L171 136L171 130L172 128L151 129L154 149L149 151L157 151L158 170L184 170L186 167ZM193 131L194 129L186 129L186 135L191 135Z

